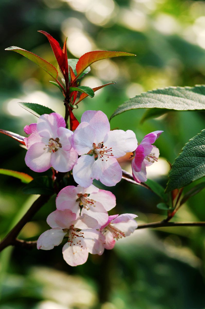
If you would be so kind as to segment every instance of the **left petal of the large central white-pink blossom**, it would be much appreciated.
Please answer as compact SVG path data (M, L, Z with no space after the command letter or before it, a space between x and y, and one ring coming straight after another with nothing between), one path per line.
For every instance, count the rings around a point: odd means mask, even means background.
M89 123L81 122L73 134L73 148L77 151L78 155L85 155L93 149L93 143L97 143L95 130Z

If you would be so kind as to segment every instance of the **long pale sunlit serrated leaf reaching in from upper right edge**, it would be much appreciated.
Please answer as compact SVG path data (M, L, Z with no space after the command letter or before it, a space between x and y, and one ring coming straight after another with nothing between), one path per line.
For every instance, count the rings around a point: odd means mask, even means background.
M203 110L205 109L205 86L166 87L143 92L120 105L110 119L136 108L163 108L167 112Z

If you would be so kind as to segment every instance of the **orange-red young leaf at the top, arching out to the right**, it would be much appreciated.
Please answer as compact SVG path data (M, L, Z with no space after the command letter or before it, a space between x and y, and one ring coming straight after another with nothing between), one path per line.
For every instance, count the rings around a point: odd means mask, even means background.
M125 53L125 52L110 52L110 51L104 51L104 50L96 50L93 52L85 53L79 58L77 62L77 65L76 65L77 76L75 79L77 79L78 76L80 76L80 74L93 62L102 60L102 59L120 57L120 56L136 56L136 55Z

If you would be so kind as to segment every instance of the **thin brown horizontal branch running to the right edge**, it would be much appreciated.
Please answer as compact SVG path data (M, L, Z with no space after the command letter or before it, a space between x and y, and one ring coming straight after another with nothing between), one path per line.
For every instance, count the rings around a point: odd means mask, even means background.
M169 227L169 226L205 226L205 222L152 222L138 225L137 229L146 229L148 227Z

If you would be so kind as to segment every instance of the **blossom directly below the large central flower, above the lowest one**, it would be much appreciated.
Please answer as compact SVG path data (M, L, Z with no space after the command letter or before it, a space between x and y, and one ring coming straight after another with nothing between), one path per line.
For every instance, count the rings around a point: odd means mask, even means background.
M80 185L63 188L56 197L58 210L70 209L78 216L88 214L98 221L100 228L108 220L107 211L116 205L115 195L91 185L83 188Z

